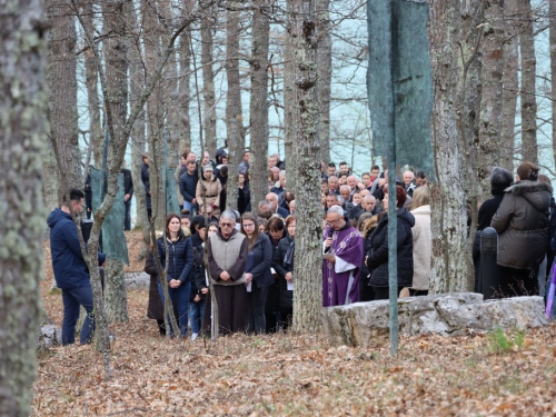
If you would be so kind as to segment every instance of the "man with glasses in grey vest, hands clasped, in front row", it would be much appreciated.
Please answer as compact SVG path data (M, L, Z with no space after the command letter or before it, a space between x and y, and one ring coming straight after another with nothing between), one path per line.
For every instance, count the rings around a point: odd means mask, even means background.
M247 315L246 267L248 241L236 230L236 215L225 210L220 215L219 229L208 238L208 269L218 304L219 334L244 331ZM211 302L207 297L202 329L210 328Z

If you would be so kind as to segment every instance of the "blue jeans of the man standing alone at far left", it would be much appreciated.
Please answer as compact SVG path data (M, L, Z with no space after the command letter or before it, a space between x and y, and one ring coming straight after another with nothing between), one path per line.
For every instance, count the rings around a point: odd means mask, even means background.
M79 318L79 306L83 306L87 317L81 327L79 339L81 345L90 344L95 332L95 316L92 314L92 289L90 285L79 288L62 289L63 324L62 345L76 342L76 324Z

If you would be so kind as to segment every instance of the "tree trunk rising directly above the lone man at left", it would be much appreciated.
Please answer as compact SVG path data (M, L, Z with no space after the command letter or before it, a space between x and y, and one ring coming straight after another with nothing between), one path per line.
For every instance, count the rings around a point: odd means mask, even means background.
M83 188L78 142L76 22L62 0L46 1L50 26L48 42L48 115L52 147L66 185ZM61 201L63 188L58 190Z

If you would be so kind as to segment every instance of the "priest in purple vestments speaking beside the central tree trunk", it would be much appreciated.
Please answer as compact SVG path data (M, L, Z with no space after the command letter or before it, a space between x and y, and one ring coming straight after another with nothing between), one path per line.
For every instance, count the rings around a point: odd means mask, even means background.
M359 301L359 274L365 241L344 219L344 209L332 206L322 242L322 307Z

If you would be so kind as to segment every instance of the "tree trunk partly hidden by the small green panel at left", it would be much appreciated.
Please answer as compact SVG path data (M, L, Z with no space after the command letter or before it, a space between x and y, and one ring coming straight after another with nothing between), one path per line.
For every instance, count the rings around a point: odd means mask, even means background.
M118 143L118 139L123 137L123 130L128 113L128 61L126 40L127 20L128 17L123 9L125 2L121 3L102 3L103 24L111 37L105 40L105 73L107 77L108 97L105 99L110 106L112 115L112 135L111 146L109 151L109 165L121 166L121 160L118 160L115 153L113 143ZM127 140L123 142L126 148ZM118 168L118 167L116 167ZM123 262L118 260L109 260L106 268L106 288L105 302L107 319L109 322L129 321L128 301L126 281L123 279Z

